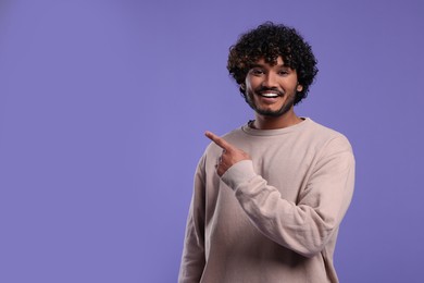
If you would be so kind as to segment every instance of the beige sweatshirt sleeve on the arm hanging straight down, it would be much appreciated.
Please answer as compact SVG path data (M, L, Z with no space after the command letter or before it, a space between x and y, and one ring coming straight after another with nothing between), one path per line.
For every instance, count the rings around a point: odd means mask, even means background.
M198 283L203 273L204 257L204 157L194 181L194 193L187 218L178 283Z

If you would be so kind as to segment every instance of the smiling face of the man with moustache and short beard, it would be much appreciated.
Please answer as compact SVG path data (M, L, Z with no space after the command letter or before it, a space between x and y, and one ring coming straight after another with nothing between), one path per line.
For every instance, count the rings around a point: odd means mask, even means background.
M282 116L292 111L296 93L302 90L296 71L285 66L280 57L275 65L260 59L241 87L249 106L264 116Z

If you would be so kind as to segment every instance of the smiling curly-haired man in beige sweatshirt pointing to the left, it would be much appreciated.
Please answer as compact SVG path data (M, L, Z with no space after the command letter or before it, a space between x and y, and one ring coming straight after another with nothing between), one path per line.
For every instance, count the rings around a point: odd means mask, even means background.
M227 69L255 119L202 156L179 282L338 282L333 255L349 207L354 158L347 138L294 106L317 73L294 29L265 23L230 48Z

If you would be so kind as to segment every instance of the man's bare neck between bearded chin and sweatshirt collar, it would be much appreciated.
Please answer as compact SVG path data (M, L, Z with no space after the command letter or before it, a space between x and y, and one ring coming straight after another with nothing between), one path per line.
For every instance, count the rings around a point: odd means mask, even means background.
M257 113L251 125L258 130L277 130L299 124L302 121L295 112L287 112L280 116L265 116Z

